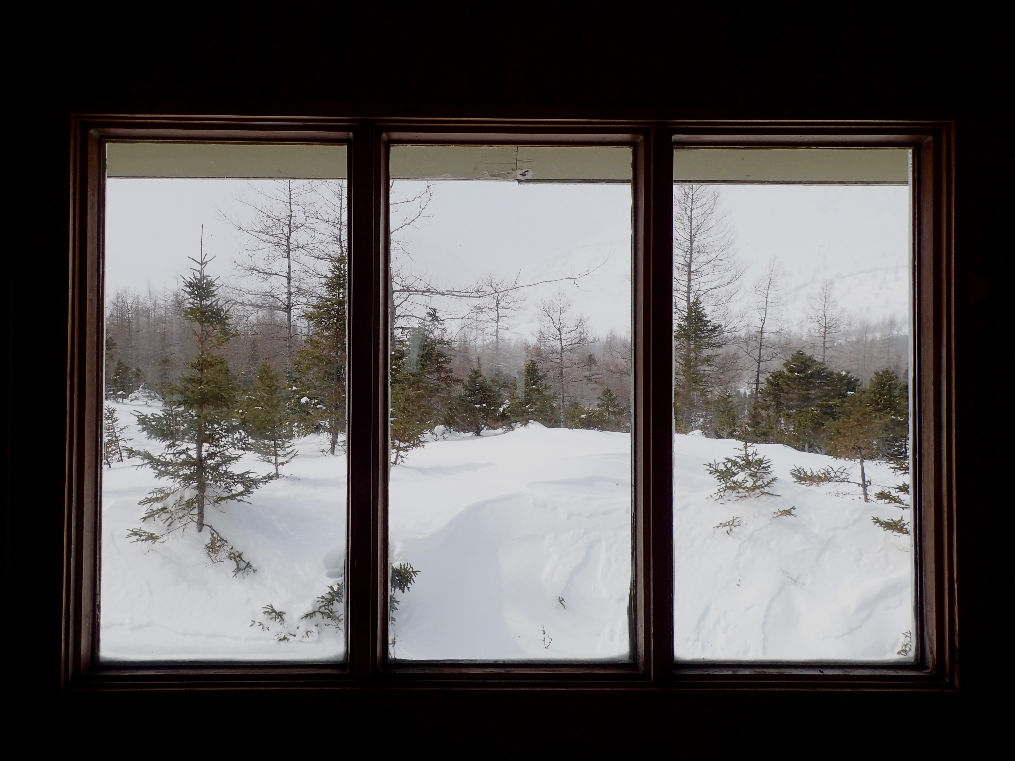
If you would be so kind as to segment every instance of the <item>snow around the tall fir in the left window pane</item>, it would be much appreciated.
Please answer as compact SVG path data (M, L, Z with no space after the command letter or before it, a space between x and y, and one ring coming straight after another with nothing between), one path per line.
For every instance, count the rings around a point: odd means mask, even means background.
M113 406L121 424L131 424L125 432L131 446L161 448L143 437L131 414L152 409L143 402ZM307 622L299 621L330 583L344 580L345 458L322 455L324 437L309 436L299 444L299 456L284 471L290 478L261 487L249 504L208 510L208 524L257 568L236 578L228 561L208 561L202 549L207 532L198 534L195 527L155 545L127 539L131 528L142 525L145 508L138 500L159 481L149 469L135 468L137 460L103 469L103 660L329 661L345 654L343 632L322 627L306 637ZM269 472L252 455L238 465ZM151 521L144 528L164 530ZM276 641L283 627L265 620L267 604L286 612L284 631L295 638Z

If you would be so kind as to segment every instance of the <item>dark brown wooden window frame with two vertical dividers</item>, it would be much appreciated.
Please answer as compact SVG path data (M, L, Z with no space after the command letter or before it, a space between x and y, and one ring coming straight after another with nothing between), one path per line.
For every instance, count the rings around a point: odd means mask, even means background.
M138 118L73 120L62 684L67 689L935 690L954 666L952 126L948 123L522 122ZM344 664L101 664L97 659L103 407L101 273L107 140L320 142L349 145L347 661ZM632 662L389 663L387 659L387 156L392 143L629 145L633 149L634 590ZM673 148L912 149L912 666L673 662ZM355 400L368 400L367 404ZM656 414L654 411L659 411Z

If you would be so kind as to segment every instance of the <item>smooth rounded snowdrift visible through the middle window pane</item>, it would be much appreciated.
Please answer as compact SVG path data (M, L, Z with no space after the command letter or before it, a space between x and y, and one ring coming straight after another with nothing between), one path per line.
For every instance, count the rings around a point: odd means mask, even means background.
M394 655L628 658L630 437L539 423L442 435L392 471L394 562L420 570Z

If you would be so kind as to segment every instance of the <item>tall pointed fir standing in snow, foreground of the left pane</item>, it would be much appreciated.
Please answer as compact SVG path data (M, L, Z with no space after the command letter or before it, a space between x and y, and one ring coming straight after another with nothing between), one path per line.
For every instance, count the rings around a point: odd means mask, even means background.
M141 466L170 482L141 500L140 504L148 506L142 520L157 518L168 531L196 524L201 533L209 506L243 501L275 477L234 469L245 443L236 413L240 387L220 354L232 336L229 313L219 297L218 282L207 274L210 260L203 247L200 258L191 261L197 266L191 270L193 275L184 279L183 316L193 326L194 358L171 385L162 411L136 415L144 435L164 443L165 448L159 454L144 449L134 454L141 459ZM155 542L164 534L135 529L129 536L135 541ZM212 560L223 555L232 559L238 573L245 570L242 554L214 529L205 550Z

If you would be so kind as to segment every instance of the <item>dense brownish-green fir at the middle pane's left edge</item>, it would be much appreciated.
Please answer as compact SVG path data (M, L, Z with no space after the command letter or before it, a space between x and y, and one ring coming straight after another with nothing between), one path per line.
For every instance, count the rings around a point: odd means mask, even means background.
M391 448L394 465L425 443L448 406L455 378L445 351L443 323L430 309L396 338L391 352Z

